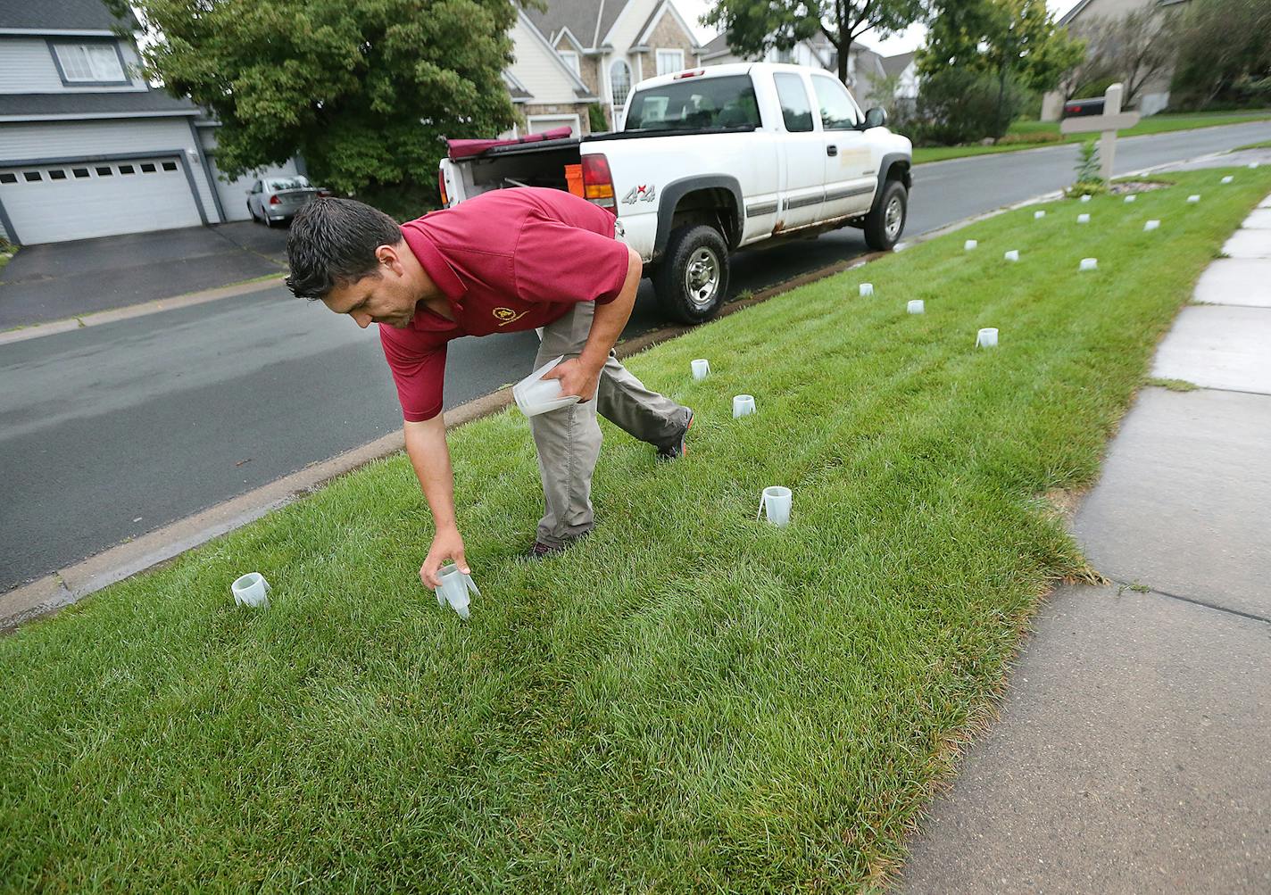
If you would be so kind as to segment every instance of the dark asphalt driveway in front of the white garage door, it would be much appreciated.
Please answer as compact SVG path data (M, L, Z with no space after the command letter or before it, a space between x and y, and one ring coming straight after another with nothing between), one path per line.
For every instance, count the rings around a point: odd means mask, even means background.
M280 273L286 243L235 221L25 247L0 268L0 332Z

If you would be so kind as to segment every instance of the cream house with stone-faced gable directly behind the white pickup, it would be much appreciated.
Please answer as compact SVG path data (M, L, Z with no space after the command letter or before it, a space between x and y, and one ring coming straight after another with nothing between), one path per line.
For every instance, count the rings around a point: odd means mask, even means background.
M702 46L671 0L552 0L522 13L601 104L606 127L622 127L633 85L698 65ZM529 52L516 42L512 75L525 81ZM533 93L533 90L531 90Z

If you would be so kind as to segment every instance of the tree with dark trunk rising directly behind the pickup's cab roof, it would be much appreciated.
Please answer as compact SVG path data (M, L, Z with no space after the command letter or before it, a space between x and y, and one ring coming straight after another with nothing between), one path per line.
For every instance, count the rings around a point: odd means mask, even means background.
M880 37L920 19L925 0L718 0L702 17L728 34L728 47L741 56L792 50L821 33L839 55L839 80L848 80L848 53L868 31Z

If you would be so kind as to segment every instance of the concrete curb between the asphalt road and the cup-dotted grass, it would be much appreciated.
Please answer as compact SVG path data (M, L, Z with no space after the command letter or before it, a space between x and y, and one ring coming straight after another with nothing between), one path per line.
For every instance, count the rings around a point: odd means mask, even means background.
M1187 161L1209 159L1215 155L1223 155L1223 153L1206 154L1197 156L1196 159L1188 159ZM1185 163L1176 161L1171 164ZM1138 177L1166 167L1167 165L1157 165L1154 168L1129 172L1126 174L1121 174L1118 179ZM1003 215L1008 211L1014 211L1038 202L1050 202L1063 198L1063 191L1052 191L1013 205L994 208L993 211L965 217L960 221L947 224L943 228L928 230L911 240L901 242L896 245L895 252L902 252L910 245L937 239L990 217L996 217L998 215ZM793 289L862 267L872 261L886 257L887 254L890 253L867 252L848 261L838 262L810 273L802 273L792 280L787 280L756 292L750 297L724 305L718 317L714 319L722 319L730 314L736 314L737 311L751 308L761 301L766 301L773 296L788 292ZM275 284L253 285L268 289ZM221 290L208 290L208 292L216 291ZM215 300L215 297L206 297L207 295L207 292L203 292L188 296L191 299L203 296L200 297L200 300L191 301L189 304L200 304L200 301L211 301ZM140 308L141 305L137 306ZM632 339L619 342L615 346L615 353L619 359L627 359L632 355L647 351L656 345L677 338L691 329L695 329L695 327L665 327L662 329L643 333ZM445 420L447 430L458 428L459 426L473 422L474 420L480 420L498 413L511 403L512 390L505 386L497 392L492 392L446 411L442 414L442 418ZM361 448L344 451L343 454L338 454L328 460L313 463L304 469L276 479L275 482L255 488L254 491L249 491L245 495L217 503L216 506L208 507L202 512L180 519L135 540L112 547L102 553L78 562L74 566L69 566L44 576L43 578L38 578L31 584L22 585L20 587L10 590L5 594L0 594L0 633L11 631L24 622L29 622L34 618L50 615L64 606L78 603L89 594L102 590L108 585L122 581L123 578L136 575L137 572L165 563L186 550L200 547L214 538L233 531L234 529L264 516L271 510L286 506L287 503L318 491L334 478L355 472L376 460L391 456L393 454L403 450L405 442L403 434L391 432L371 441L370 444L362 445Z

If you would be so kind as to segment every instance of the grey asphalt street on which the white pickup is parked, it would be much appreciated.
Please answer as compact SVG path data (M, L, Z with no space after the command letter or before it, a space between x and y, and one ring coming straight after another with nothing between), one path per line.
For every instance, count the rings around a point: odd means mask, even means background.
M1271 122L1134 137L1116 169L1263 140ZM1056 146L920 165L906 233L1057 189L1075 159ZM732 291L864 250L844 230L742 252ZM660 324L646 281L628 334ZM533 332L451 343L446 407L520 379L536 346ZM282 289L0 346L0 592L400 425L374 329Z

